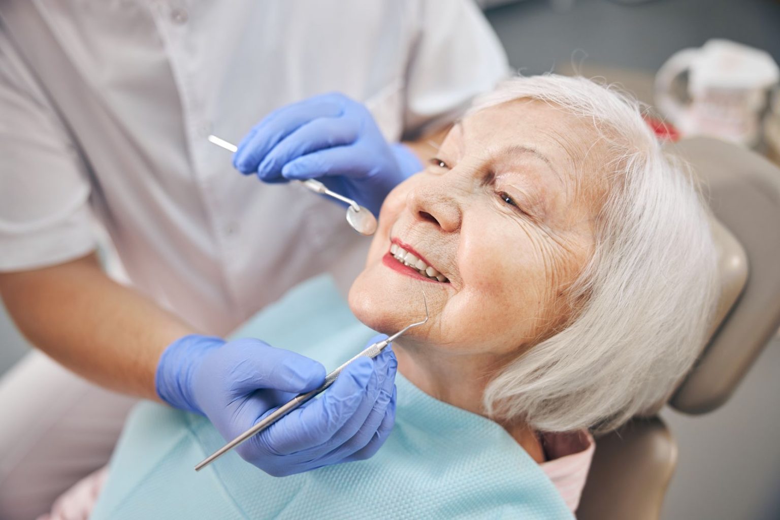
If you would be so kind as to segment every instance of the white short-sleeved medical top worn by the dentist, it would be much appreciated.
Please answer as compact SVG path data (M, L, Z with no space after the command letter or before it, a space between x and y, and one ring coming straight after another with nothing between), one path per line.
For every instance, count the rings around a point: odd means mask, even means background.
M0 271L83 256L97 215L135 287L220 334L368 239L209 133L338 90L399 140L509 71L470 0L5 0L0 19Z

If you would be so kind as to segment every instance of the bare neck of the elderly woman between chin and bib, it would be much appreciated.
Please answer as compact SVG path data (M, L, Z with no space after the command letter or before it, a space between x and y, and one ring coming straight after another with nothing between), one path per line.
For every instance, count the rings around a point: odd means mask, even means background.
M444 355L393 344L398 370L406 379L431 397L459 409L484 416L482 394L496 359L487 356ZM500 423L536 462L544 462L544 449L526 423Z

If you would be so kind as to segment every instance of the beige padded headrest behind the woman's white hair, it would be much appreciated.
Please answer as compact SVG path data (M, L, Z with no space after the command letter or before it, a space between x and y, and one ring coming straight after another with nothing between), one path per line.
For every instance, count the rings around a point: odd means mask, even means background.
M714 334L669 401L681 412L704 413L729 398L780 326L780 168L711 138L683 140L673 150L704 183L718 220L722 295Z

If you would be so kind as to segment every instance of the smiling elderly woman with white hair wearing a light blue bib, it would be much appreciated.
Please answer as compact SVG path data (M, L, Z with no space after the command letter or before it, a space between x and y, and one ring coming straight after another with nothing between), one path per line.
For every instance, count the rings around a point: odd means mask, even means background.
M715 257L690 176L636 104L582 78L510 80L385 200L349 292L362 324L315 280L242 331L336 366L368 327L419 320L424 289L431 319L393 346L398 408L378 454L284 479L231 455L195 474L222 437L144 405L94 518L571 518L576 497L567 507L542 470L551 444L673 390L705 340ZM300 330L304 311L321 323Z

